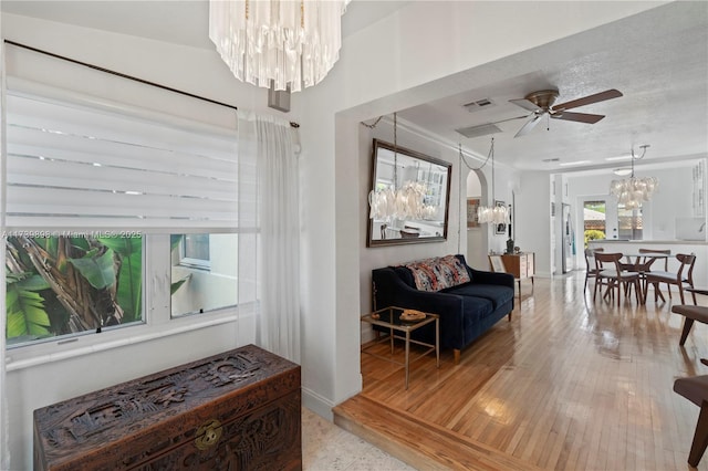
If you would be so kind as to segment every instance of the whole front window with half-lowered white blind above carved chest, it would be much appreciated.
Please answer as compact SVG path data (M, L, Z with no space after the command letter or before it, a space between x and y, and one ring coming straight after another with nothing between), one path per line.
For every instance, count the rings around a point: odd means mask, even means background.
M250 170L233 129L38 90L7 95L8 345L227 316Z

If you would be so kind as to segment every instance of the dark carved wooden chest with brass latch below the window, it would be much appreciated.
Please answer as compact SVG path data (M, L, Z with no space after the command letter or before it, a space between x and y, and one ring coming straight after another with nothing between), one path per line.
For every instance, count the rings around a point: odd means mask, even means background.
M300 366L254 345L34 411L35 470L302 469Z

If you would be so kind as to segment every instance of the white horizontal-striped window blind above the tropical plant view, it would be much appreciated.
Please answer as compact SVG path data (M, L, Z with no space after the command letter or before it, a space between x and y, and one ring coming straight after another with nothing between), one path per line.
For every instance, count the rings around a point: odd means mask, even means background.
M238 228L236 129L73 98L8 91L9 231Z

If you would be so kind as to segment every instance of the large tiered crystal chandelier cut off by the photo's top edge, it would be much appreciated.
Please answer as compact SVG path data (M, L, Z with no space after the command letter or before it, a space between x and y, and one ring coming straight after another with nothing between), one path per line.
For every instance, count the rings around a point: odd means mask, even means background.
M299 92L340 59L351 0L210 0L209 38L242 82Z

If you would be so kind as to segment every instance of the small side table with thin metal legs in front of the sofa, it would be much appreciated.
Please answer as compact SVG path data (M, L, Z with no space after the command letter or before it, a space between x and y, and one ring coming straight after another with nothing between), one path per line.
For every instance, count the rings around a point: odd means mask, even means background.
M375 356L376 358L381 358L396 365L403 365L406 369L406 389L408 389L412 343L416 345L421 345L424 347L428 347L428 349L423 352L416 359L419 359L424 355L427 355L430 352L435 350L436 366L438 368L440 367L440 316L437 314L425 313L425 318L420 321L404 321L400 318L400 315L403 314L403 312L404 312L403 307L389 306L389 307L384 307L383 310L374 311L371 314L366 314L362 316L362 322L366 322L373 325L378 325L378 326L388 328L388 337L378 339L374 342L373 345L369 345L367 347L362 347L362 353ZM413 331L416 331L431 323L435 323L435 345L427 344L425 342L414 341L413 338L410 338L410 333ZM404 363L396 362L393 358L387 358L372 352L367 352L374 345L378 345L382 342L389 341L391 353L393 354L394 339L396 338L405 342L406 354L405 354Z

